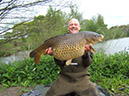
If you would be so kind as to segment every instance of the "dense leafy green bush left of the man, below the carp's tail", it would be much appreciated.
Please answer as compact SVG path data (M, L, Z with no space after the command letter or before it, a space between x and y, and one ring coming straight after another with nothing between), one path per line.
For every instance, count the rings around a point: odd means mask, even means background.
M51 56L41 56L38 65L33 59L27 58L13 64L1 64L0 83L7 87L48 84L57 78L59 70Z

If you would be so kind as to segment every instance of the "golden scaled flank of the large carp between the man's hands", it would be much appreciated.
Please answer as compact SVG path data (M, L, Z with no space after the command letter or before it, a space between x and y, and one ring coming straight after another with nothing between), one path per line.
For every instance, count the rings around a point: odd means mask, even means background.
M66 40L65 44L61 45L59 44L59 46L54 47L54 49L52 50L53 56L59 60L68 60L70 58L76 58L82 56L84 54L85 45L86 45L85 38L82 38L81 40L77 39L71 41ZM65 50L62 50L63 48Z

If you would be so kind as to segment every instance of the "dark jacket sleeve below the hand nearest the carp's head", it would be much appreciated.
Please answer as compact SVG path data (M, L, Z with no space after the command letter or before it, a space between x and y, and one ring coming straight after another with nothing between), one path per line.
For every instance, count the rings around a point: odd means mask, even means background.
M88 67L89 65L91 65L92 63L92 59L93 59L93 53L91 51L85 53L83 56L82 56L82 59L83 59L83 65L85 67Z

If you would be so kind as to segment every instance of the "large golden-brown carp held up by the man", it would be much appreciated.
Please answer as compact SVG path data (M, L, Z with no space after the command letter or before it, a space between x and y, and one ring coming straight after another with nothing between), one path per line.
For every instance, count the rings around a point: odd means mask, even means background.
M41 54L46 54L45 50L51 47L53 56L56 59L67 60L66 65L70 65L72 59L80 57L85 53L86 44L94 44L102 41L103 38L103 35L91 31L55 36L33 50L30 53L30 57L34 57L35 63L38 64ZM94 50L92 47L91 49Z

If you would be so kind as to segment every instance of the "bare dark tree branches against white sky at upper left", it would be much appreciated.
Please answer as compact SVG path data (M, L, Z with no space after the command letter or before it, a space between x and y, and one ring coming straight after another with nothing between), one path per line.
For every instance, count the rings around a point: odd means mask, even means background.
M0 2L0 35L11 32L15 27L32 21L37 14L37 10L34 10L36 7L51 5L62 9L74 4L73 2L74 0L3 0ZM1 44L3 42L0 42Z

